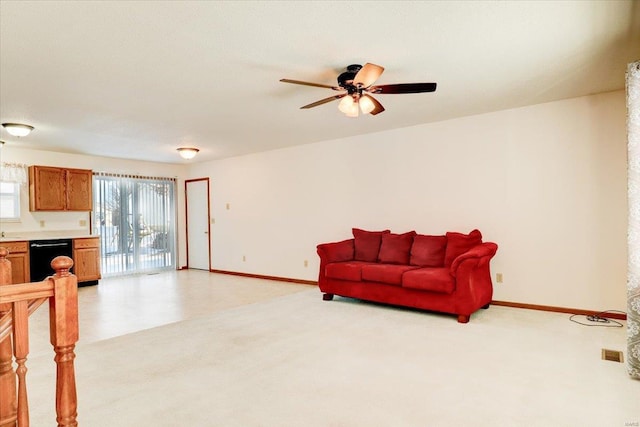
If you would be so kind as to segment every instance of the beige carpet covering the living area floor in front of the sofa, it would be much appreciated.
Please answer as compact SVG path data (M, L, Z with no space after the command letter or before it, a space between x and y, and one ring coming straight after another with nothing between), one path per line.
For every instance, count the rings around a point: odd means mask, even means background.
M81 426L624 426L640 421L625 331L491 307L455 317L315 288L80 344ZM29 361L32 425L53 362ZM45 366L46 365L46 366Z

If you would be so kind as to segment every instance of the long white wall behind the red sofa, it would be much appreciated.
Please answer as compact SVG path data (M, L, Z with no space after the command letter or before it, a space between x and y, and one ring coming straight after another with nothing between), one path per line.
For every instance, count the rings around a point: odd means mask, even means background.
M617 91L194 164L189 177L211 178L216 269L314 280L316 245L351 227L478 228L500 247L494 299L624 310L625 117Z

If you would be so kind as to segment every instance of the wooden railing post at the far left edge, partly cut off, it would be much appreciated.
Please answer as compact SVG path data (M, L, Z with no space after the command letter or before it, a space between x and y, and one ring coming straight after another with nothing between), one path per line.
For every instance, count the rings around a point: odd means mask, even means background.
M11 262L7 259L9 251L0 247L0 286L11 284ZM11 304L0 304L0 317L11 310ZM18 401L16 397L16 375L13 371L13 349L11 334L0 341L0 426L15 426Z

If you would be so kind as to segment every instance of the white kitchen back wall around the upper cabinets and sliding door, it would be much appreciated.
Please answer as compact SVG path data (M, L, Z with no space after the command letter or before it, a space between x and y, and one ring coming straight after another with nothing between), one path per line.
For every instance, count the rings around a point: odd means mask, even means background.
M95 172L175 177L177 178L178 186L178 224L184 229L184 175L187 170L186 165L29 150L19 148L13 143L7 143L0 149L0 161L7 163L23 163L29 166L60 166L92 169ZM15 234L21 232L89 231L88 212L30 212L28 185L22 186L20 199L20 222L0 223L0 229L8 235L10 235L9 233ZM40 226L41 220L45 222L45 227ZM87 225L81 226L80 220L87 221ZM186 263L184 247L184 239L181 239L178 251L179 266Z

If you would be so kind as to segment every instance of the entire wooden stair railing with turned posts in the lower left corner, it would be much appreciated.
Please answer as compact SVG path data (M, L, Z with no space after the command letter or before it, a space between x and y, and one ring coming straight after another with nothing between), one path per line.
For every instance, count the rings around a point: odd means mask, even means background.
M47 300L56 362L56 421L59 427L77 426L74 349L78 341L78 281L69 272L73 260L54 258L51 267L55 274L42 282L11 284L8 254L0 247L0 427L29 426L29 314Z

